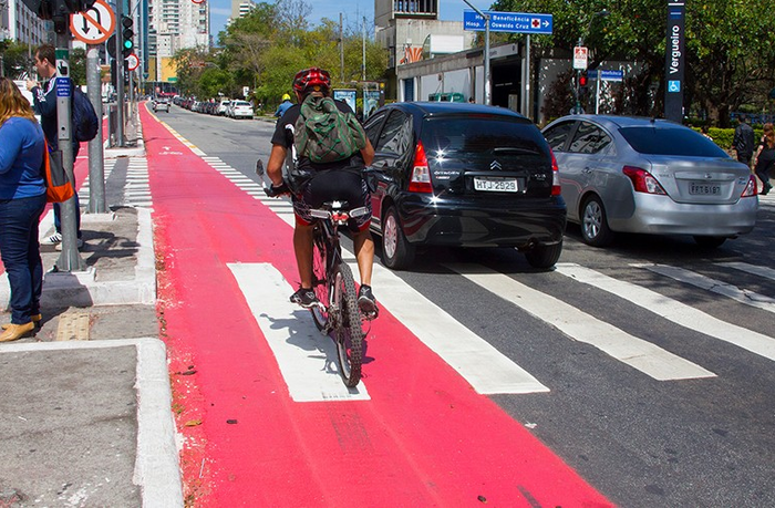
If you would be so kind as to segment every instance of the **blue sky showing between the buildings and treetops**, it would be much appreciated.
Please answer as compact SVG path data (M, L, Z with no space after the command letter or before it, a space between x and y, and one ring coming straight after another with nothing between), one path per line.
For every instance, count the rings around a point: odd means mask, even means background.
M262 0L269 3L271 0ZM218 33L226 27L226 19L231 15L231 0L209 0L210 2L210 32L214 41L218 42ZM477 9L487 10L492 4L490 0L469 0ZM328 18L339 21L339 13L344 14L344 25L354 25L363 17L368 22L374 20L374 0L308 0L312 7L310 22L313 25L320 20ZM438 0L440 19L444 21L463 21L463 10L469 9L463 0Z

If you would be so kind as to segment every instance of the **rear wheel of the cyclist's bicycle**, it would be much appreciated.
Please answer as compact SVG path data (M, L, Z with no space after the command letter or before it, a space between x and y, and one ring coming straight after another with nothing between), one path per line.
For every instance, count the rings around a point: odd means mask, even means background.
M363 329L358 311L355 281L350 267L344 263L341 263L334 273L333 300L339 312L334 329L339 373L344 385L352 388L361 381Z

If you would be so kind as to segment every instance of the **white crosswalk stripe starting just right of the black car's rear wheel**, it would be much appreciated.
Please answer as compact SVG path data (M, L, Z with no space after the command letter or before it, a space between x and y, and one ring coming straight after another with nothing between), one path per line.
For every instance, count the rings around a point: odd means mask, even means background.
M727 323L650 289L613 279L575 263L557 263L557 272L616 294L681 326L728 342L768 360L775 360L775 340L767 335Z

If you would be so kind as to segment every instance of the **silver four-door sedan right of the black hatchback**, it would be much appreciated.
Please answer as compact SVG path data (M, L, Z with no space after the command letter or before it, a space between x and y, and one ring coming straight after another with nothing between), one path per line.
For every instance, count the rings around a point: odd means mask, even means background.
M711 139L653 118L564 116L544 131L568 220L604 246L614 231L691 235L703 247L751 231L756 180Z

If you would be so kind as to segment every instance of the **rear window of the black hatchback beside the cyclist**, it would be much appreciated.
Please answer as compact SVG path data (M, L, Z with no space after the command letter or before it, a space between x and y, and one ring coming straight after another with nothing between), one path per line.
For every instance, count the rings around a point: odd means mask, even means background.
M455 116L426 118L422 142L426 151L546 154L548 145L531 122L513 117Z

